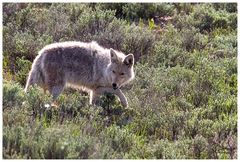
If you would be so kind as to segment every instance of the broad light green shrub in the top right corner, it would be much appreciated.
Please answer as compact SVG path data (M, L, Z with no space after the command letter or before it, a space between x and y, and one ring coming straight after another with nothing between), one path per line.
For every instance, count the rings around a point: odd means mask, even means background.
M226 10L215 10L209 4L197 4L189 15L180 14L174 18L174 22L180 28L194 26L201 33L210 32L216 28L235 30L237 15Z

